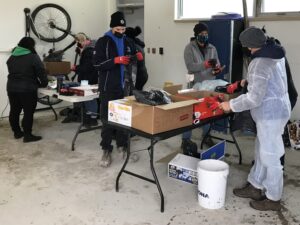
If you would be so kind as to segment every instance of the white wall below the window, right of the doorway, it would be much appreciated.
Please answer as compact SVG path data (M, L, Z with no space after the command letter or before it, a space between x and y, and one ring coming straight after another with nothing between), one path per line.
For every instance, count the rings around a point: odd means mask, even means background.
M193 35L194 22L174 21L174 1L145 0L146 49L164 47L164 55L146 54L149 73L147 86L162 87L164 81L185 83L183 50ZM269 36L278 38L286 48L295 86L300 94L300 21L268 21L251 23L266 26ZM146 51L147 52L147 51ZM300 119L300 97L292 119Z

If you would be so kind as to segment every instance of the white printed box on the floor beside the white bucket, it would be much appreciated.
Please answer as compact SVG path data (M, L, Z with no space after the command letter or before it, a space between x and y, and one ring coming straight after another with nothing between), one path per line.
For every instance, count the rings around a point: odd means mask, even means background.
M198 185L197 166L199 161L200 159L179 153L168 163L168 176Z

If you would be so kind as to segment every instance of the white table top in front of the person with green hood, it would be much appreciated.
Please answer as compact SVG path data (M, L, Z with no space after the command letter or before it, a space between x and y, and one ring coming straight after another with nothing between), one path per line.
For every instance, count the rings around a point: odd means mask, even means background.
M39 88L38 93L43 94L43 95L48 95L48 96L51 96L51 97L54 97L54 98L58 98L58 99L61 99L63 101L67 101L67 102L85 102L85 101L90 101L90 100L93 100L93 99L99 97L99 93L95 93L93 95L88 95L88 96L60 95L56 92L56 90L48 89L48 88Z

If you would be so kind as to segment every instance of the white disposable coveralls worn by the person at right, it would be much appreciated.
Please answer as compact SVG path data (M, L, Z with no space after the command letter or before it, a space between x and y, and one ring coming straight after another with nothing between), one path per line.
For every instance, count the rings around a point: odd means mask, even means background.
M254 58L248 67L248 92L230 100L233 112L250 109L256 122L255 163L248 182L265 190L268 199L278 201L283 191L284 154L282 134L290 118L285 60Z

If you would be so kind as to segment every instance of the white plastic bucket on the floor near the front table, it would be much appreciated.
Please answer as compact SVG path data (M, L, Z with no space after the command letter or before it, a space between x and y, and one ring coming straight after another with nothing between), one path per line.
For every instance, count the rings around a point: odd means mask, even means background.
M227 163L206 159L198 163L198 202L207 209L219 209L224 206L226 196Z

